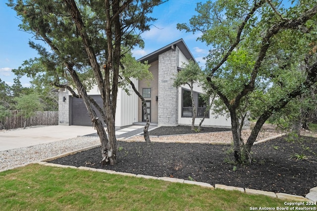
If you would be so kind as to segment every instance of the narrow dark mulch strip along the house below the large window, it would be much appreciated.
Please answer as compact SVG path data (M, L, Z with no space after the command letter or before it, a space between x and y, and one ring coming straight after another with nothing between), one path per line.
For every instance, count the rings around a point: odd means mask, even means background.
M190 126L175 126L175 127L158 127L156 129L150 130L149 135L176 135L176 134L189 134L197 133L190 129ZM196 128L196 127L195 127ZM222 127L202 127L200 132L220 132L220 131L230 131L231 128Z

